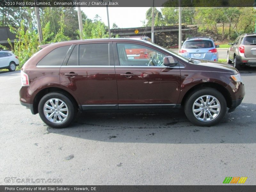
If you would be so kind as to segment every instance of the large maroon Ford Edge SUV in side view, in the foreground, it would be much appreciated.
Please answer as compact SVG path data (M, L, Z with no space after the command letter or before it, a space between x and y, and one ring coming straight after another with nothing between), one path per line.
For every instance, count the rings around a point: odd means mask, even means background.
M148 41L90 39L42 47L21 70L20 102L55 128L68 126L78 110L180 107L194 124L211 126L245 94L239 72L228 64L187 59ZM150 56L131 57L130 47Z

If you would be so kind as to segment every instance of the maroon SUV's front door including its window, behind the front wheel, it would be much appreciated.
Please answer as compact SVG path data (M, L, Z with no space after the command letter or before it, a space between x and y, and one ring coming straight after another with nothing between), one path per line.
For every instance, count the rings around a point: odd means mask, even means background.
M140 44L114 44L119 109L173 108L180 95L180 68L166 67L163 52Z

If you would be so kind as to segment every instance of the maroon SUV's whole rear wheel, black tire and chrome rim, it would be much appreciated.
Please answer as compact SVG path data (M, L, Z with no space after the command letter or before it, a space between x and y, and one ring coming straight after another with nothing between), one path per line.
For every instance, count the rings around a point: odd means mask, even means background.
M46 104L48 104L47 107ZM39 116L45 124L53 128L67 127L73 121L74 117L76 116L76 112L76 105L74 105L72 100L70 100L63 93L48 93L44 95L38 104Z

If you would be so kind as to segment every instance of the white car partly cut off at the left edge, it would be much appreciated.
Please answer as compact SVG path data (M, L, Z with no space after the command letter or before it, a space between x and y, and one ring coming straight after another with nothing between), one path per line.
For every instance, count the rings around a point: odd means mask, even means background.
M0 50L0 69L9 69L15 71L16 66L20 64L18 57L11 51Z

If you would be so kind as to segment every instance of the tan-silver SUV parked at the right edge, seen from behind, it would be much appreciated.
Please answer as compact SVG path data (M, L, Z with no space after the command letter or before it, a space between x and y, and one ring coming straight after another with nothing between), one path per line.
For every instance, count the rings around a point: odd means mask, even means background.
M227 63L234 63L234 67L256 67L256 33L243 34L236 38L228 49Z

